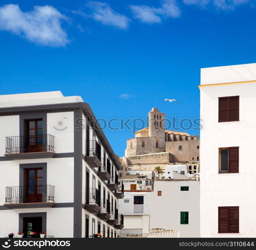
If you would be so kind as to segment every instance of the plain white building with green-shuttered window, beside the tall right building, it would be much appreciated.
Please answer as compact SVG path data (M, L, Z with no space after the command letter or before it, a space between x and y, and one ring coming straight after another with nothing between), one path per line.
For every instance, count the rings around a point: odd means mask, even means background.
M178 230L180 237L199 237L199 188L196 179L155 180L151 192L150 229Z

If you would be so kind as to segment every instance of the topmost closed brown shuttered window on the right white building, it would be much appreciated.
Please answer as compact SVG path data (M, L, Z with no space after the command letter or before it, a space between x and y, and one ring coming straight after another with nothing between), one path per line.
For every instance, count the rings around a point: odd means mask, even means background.
M219 97L219 122L239 120L239 96Z

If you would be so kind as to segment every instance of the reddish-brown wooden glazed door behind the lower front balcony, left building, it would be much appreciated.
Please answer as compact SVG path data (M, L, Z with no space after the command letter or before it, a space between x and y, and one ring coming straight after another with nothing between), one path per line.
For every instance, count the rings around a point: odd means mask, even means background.
M26 169L26 200L27 202L43 201L43 168Z

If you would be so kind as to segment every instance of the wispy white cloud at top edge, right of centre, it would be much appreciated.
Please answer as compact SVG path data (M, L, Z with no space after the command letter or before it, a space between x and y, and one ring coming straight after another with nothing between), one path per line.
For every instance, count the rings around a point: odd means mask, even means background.
M180 16L180 9L176 0L162 0L161 6L151 7L148 5L130 5L134 17L146 23L158 23L162 17L177 18Z

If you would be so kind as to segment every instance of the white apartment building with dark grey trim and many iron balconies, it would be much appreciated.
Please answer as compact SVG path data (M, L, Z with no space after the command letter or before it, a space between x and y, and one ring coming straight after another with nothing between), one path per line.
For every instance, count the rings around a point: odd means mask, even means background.
M117 237L121 166L97 125L80 96L0 95L0 237Z

